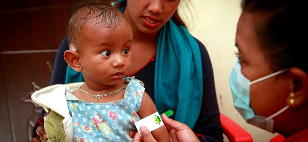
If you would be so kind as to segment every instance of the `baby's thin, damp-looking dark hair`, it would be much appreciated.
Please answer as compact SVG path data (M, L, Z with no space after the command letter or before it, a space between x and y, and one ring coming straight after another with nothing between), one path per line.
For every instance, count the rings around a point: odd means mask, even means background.
M124 15L110 5L95 1L79 2L74 6L67 25L69 48L76 51L80 42L87 40L83 36L85 32L98 28L116 28L123 22L127 22ZM92 26L89 31L85 31L87 24Z

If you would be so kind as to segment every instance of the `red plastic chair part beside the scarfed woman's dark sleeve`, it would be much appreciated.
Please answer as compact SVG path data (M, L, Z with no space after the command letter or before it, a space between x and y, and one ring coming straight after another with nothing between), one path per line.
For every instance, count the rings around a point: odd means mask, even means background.
M221 126L230 142L252 142L250 134L229 117L220 114Z

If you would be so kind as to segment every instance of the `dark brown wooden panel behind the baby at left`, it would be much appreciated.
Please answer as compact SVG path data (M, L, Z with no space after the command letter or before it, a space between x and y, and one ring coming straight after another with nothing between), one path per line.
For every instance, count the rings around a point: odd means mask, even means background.
M0 141L29 140L28 119L35 122L34 112L40 108L24 101L34 91L32 82L39 87L49 85L47 62L53 67L71 8L79 1L0 2Z

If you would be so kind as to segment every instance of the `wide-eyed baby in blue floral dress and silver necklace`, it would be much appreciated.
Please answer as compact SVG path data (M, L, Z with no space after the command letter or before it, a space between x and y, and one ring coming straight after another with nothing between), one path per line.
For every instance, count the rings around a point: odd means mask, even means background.
M118 10L99 3L75 6L67 27L67 64L84 83L53 85L34 92L34 102L50 112L48 141L132 141L134 123L157 112L143 83L128 74L132 29ZM152 132L169 141L162 126Z

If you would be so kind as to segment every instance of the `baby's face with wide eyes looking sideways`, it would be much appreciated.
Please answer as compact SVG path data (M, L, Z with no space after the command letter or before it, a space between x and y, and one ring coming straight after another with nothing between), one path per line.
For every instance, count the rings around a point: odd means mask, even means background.
M131 27L124 22L116 28L92 29L88 26L85 31L86 41L78 51L85 81L99 85L118 84L130 68Z

